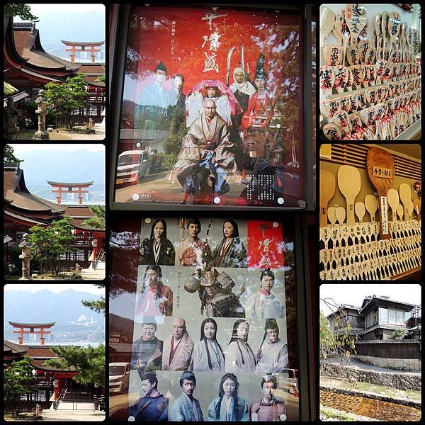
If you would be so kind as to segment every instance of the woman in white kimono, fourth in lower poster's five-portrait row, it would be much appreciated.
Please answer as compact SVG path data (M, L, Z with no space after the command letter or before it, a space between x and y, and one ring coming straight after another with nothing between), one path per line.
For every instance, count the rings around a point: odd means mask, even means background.
M226 372L254 373L256 356L248 344L249 324L244 319L234 322L232 339L226 348Z

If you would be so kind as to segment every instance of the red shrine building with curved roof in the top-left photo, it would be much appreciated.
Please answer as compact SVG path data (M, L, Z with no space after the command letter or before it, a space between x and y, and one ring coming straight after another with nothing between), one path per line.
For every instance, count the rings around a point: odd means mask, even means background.
M99 43L86 44L103 44ZM12 96L17 108L20 107L18 102L26 103L35 99L45 84L52 81L60 83L67 77L83 73L86 75L89 98L88 106L80 108L77 121L86 122L91 117L96 123L101 122L101 113L106 106L106 88L105 83L98 81L98 77L105 74L103 64L92 60L89 63L70 62L47 53L42 47L35 23L13 23L13 18L4 18L3 52L4 81L18 89L18 93Z

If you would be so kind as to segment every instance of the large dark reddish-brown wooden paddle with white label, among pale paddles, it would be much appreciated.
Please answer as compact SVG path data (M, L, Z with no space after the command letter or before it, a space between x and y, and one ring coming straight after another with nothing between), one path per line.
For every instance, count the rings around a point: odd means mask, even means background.
M390 229L388 228L388 200L387 193L394 180L394 159L390 152L371 147L368 150L366 159L368 176L370 182L378 191L378 208L380 215L379 234L381 239L390 239Z

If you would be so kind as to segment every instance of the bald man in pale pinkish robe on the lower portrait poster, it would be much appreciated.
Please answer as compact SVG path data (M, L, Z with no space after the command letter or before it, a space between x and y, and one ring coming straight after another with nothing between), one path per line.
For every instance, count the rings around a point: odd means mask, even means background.
M188 370L191 363L193 341L186 330L186 321L174 317L172 333L164 341L162 370Z

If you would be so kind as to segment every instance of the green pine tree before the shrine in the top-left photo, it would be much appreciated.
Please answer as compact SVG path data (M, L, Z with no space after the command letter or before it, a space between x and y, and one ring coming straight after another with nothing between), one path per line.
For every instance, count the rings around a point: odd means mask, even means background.
M84 74L78 74L77 77L68 77L64 83L52 82L45 85L47 104L55 106L57 114L65 119L67 128L70 129L74 127L76 112L87 106L86 98L89 94L84 77Z

